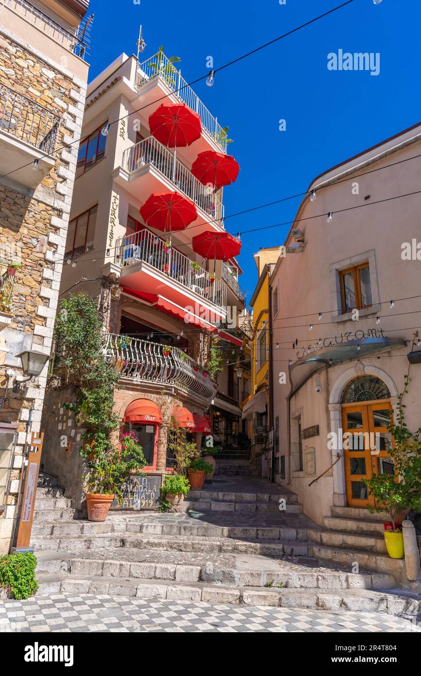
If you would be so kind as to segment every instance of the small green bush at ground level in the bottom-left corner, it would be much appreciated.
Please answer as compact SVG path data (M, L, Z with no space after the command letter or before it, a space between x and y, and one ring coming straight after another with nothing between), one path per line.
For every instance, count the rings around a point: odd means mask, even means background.
M30 552L0 556L0 587L17 599L32 596L38 589L35 569L36 556Z

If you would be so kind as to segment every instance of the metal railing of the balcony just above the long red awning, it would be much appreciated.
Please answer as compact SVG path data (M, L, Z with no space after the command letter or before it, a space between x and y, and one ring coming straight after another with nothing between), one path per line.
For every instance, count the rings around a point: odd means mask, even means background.
M215 304L225 312L227 287L221 280L212 279L203 268L195 269L192 261L173 247L165 250L165 242L148 230L117 239L115 263L122 267L140 261L148 263L155 270L166 274L168 282L177 281L186 289L198 293L202 298Z

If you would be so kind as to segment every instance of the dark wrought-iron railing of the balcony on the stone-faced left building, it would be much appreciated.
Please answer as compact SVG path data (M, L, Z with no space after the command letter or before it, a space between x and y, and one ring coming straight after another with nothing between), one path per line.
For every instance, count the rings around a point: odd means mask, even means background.
M59 128L59 116L0 84L0 131L51 155L57 145Z

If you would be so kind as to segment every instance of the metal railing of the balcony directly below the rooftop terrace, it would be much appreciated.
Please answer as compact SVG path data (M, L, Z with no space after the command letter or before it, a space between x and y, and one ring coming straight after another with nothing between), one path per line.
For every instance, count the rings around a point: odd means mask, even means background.
M136 171L146 164L155 166L182 193L190 197L198 207L211 216L212 220L216 222L223 220L223 203L219 201L215 193L202 185L184 164L177 159L174 160L173 152L153 136L139 141L123 153L122 166L126 171Z

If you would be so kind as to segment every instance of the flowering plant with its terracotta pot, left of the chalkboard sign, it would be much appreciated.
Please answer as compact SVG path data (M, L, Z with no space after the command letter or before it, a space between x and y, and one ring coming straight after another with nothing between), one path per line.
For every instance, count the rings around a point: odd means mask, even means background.
M141 471L146 460L133 431L123 433L120 443L107 447L102 439L90 446L94 457L88 460L84 479L89 521L105 521L113 500L123 500L125 482L132 472L146 476Z

